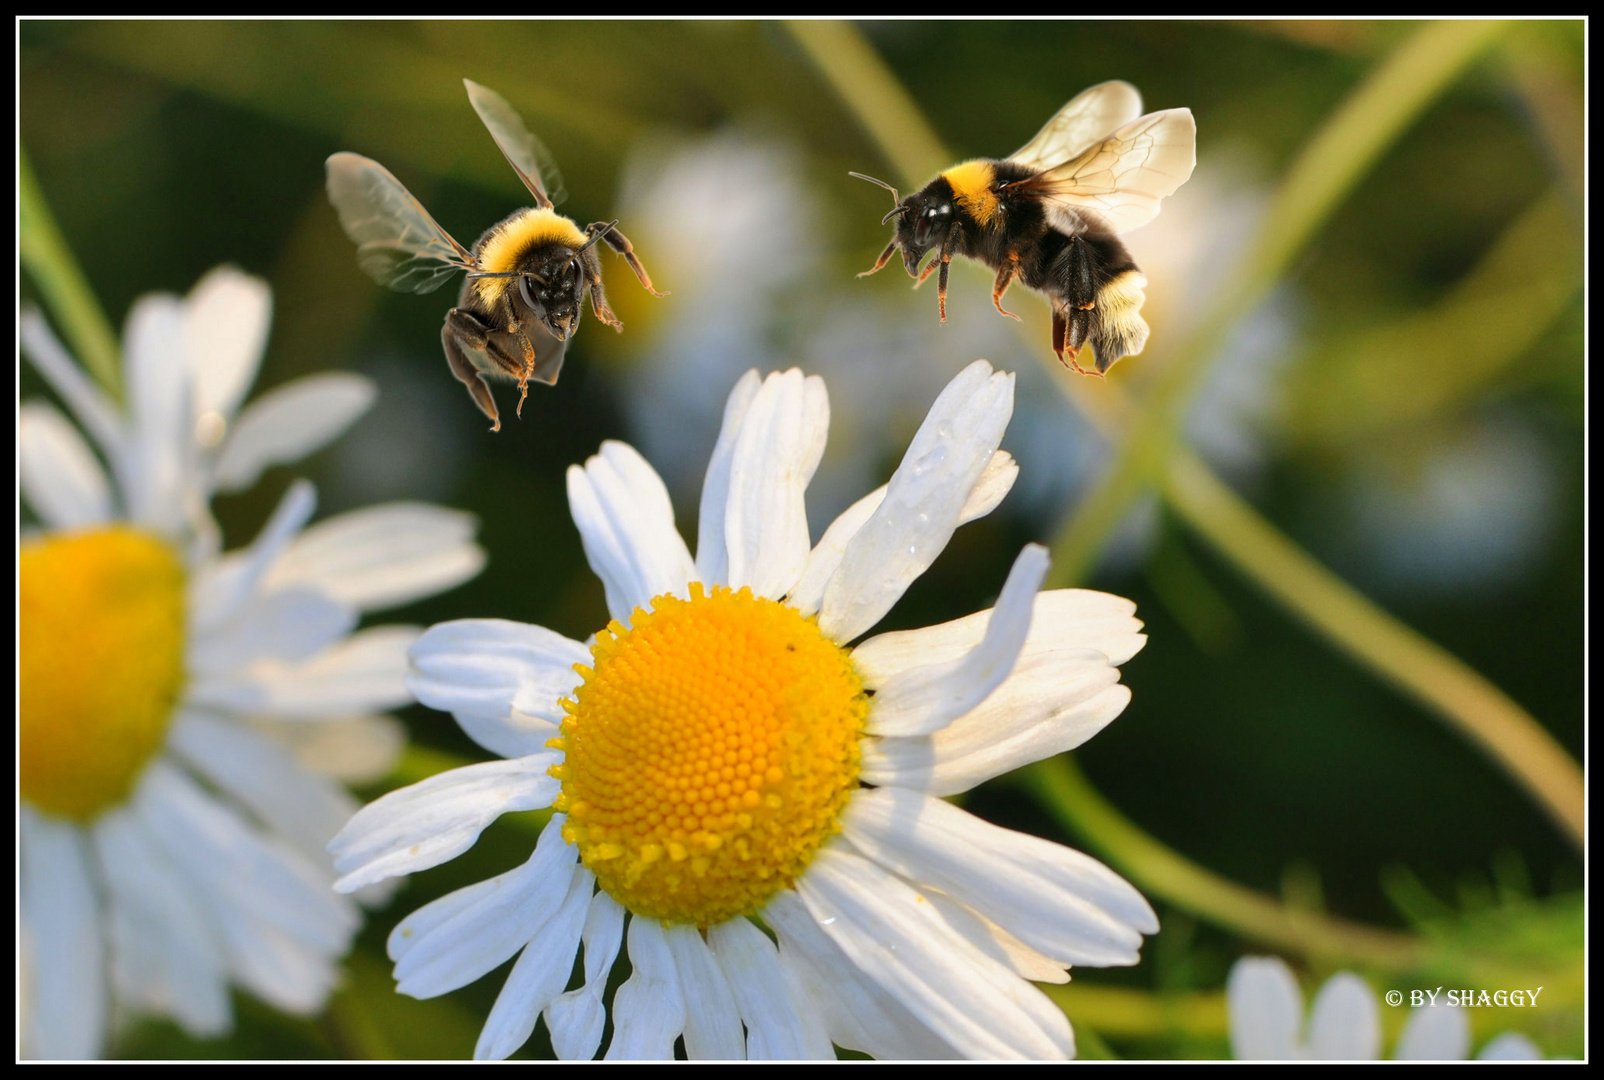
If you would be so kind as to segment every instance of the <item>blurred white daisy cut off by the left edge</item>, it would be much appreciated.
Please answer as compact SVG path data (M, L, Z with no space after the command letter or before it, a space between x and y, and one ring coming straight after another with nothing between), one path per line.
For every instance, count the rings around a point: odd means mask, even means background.
M314 376L241 409L268 318L266 286L233 270L141 298L127 411L37 313L21 319L99 451L53 406L21 406L21 491L42 523L18 555L22 1056L95 1058L130 1014L220 1035L231 985L322 1008L359 924L324 854L358 806L340 782L399 753L382 711L411 701L417 637L356 623L483 565L473 522L438 507L305 528L306 483L220 554L210 494L311 453L374 396Z

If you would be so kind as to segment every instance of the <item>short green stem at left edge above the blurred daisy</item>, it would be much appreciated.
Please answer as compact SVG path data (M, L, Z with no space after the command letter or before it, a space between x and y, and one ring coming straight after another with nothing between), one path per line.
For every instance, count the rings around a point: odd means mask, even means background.
M18 149L18 212L22 268L43 294L79 363L88 367L107 396L122 401L117 335L50 213L26 149Z

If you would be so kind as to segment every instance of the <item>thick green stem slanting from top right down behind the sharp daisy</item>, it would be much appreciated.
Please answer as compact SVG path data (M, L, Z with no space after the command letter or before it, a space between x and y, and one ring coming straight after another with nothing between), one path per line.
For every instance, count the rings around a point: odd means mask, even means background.
M1227 334L1282 278L1349 191L1410 124L1503 32L1503 22L1421 27L1325 122L1293 162L1235 278L1198 327L1176 342L1115 464L1052 544L1047 587L1083 581L1126 507L1155 486L1177 448L1185 404Z

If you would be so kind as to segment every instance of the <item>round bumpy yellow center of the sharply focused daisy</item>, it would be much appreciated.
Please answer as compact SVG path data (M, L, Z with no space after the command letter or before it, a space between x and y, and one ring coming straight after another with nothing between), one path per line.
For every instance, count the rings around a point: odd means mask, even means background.
M712 926L791 884L858 786L863 682L794 608L691 586L610 623L552 745L563 838L613 899Z

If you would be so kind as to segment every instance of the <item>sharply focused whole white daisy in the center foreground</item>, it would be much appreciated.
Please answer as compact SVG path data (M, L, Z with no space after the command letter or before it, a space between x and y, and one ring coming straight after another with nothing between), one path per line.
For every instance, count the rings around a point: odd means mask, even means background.
M351 891L555 809L526 863L395 928L396 989L436 997L518 956L475 1056L508 1056L544 1016L558 1056L593 1058L627 940L608 1059L672 1058L682 1037L695 1059L1073 1056L1031 981L1136 963L1152 908L1102 863L942 796L1108 724L1131 696L1115 664L1145 640L1134 605L1038 595L1030 546L993 610L850 647L1007 493L1012 406L1014 377L970 364L818 544L804 491L829 404L799 371L730 395L695 558L632 448L569 469L613 621L590 644L430 629L414 693L504 761L393 791L329 846Z

